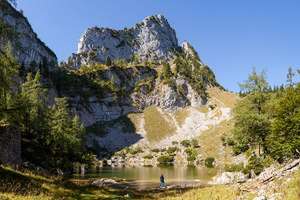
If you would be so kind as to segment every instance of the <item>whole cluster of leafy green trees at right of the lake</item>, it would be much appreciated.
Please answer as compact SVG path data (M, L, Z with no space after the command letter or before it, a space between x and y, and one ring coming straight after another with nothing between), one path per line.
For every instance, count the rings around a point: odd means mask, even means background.
M300 84L293 82L294 75L290 68L286 88L270 89L265 74L255 71L241 84L246 96L234 112L235 154L258 147L259 156L270 155L279 162L299 155ZM259 173L260 165L255 171Z

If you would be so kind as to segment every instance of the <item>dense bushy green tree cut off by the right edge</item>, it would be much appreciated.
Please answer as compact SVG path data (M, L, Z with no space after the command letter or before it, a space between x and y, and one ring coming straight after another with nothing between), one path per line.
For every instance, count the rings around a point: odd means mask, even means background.
M300 84L281 92L274 99L272 110L267 148L273 158L283 161L300 151Z

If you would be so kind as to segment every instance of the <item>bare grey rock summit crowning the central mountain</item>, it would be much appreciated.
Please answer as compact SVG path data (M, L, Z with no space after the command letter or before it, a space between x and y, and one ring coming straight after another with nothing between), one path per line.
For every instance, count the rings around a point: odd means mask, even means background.
M130 60L137 56L141 61L163 61L170 59L177 48L174 29L164 16L156 15L129 29L87 29L69 62L78 68L91 62L103 63L108 57Z

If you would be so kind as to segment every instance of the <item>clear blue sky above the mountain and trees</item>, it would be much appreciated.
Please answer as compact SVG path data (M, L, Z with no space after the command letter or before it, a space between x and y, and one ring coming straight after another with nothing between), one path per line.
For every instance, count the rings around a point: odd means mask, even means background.
M299 0L19 0L39 37L65 60L91 26L122 29L163 14L227 89L255 67L271 85L300 68Z

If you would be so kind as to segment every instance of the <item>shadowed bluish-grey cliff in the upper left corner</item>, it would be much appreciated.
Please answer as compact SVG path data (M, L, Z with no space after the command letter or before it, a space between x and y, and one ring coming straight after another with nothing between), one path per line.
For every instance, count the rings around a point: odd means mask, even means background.
M2 31L10 31L6 36L0 35L0 48L9 41L15 57L25 68L33 62L47 62L52 66L57 63L56 55L37 37L28 20L5 0L0 1L0 26Z

